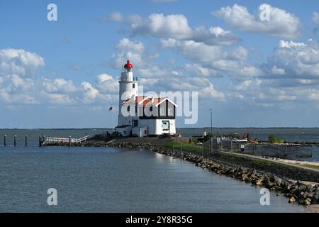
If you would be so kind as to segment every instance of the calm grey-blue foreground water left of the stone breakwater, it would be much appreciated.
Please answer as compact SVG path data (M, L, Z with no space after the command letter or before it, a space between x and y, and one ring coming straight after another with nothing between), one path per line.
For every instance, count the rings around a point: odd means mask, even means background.
M0 211L307 212L194 163L123 148L0 147ZM47 189L57 189L57 206Z

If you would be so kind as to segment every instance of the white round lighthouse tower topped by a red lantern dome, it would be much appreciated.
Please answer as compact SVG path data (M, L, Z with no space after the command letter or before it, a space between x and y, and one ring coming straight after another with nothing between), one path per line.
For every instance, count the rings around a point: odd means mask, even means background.
M120 83L118 126L128 126L130 122L126 122L128 118L124 117L121 112L122 104L132 96L138 96L138 77L133 77L133 65L129 60L124 65L124 72L121 73L118 82Z

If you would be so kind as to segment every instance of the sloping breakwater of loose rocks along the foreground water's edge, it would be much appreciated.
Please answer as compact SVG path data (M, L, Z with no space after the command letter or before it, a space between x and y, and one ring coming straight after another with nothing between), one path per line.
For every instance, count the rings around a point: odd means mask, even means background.
M300 181L296 182L291 179L278 177L273 173L227 163L225 160L211 160L191 153L172 153L170 148L159 147L151 143L105 143L102 141L86 141L82 146L141 148L150 150L163 155L194 162L196 166L208 169L211 172L216 172L219 175L233 177L234 179L284 194L284 196L289 198L289 203L298 202L302 205L319 204L319 184L305 184Z

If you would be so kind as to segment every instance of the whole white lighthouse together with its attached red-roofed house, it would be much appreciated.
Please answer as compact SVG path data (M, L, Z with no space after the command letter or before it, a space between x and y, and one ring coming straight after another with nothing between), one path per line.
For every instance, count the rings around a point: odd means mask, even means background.
M177 105L167 97L138 95L138 77L133 77L130 61L118 79L120 83L119 114L116 131L123 136L176 134Z

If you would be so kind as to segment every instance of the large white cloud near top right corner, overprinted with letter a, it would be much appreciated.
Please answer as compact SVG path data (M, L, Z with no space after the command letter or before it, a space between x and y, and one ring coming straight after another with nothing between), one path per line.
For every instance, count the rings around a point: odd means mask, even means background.
M262 9L269 9L270 21L262 21ZM245 6L234 4L213 11L213 15L222 18L226 23L242 31L265 33L282 38L296 38L299 35L301 23L292 13L272 7L269 4L259 6L255 15L251 14Z

